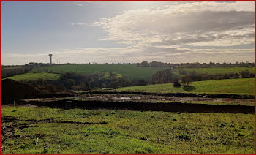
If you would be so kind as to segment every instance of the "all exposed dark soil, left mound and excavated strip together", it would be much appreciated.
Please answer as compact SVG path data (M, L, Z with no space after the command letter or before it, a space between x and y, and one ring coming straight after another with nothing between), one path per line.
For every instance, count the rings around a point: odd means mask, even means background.
M189 113L254 113L254 106L246 106L246 104L254 105L254 97L246 95L97 91L94 94L92 92L80 94L75 100L68 98L74 94L73 92L34 88L26 83L19 83L10 79L2 80L2 105L7 106L16 100L16 105L65 109L107 108ZM20 101L20 99L24 100ZM225 103L225 105L212 104L214 102ZM238 103L238 105L231 102Z

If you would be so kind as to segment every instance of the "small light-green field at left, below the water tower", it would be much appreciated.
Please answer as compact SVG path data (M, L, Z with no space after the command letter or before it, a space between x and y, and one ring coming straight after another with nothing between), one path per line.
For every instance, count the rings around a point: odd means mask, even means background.
M23 75L15 75L13 77L8 77L12 80L18 81L27 81L27 80L58 80L60 77L59 74L47 73L47 72L39 72L39 73L26 73Z

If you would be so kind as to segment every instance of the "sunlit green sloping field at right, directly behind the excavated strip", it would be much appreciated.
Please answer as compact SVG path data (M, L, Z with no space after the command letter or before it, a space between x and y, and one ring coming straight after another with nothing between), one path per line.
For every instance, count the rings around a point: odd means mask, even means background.
M190 87L173 87L173 83L132 86L118 88L116 91L146 91L155 93L206 93L206 94L255 94L255 79L205 80L192 82Z

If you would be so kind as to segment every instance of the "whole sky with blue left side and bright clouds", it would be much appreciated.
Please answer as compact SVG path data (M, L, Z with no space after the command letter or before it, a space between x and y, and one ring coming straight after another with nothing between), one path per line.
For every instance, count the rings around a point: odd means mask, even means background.
M3 65L255 60L255 2L2 2Z

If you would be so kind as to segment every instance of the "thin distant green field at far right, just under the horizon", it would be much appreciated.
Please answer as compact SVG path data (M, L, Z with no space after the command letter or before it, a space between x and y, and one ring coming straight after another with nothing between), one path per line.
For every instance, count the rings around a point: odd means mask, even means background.
M211 67L211 68L184 68L185 71L191 72L195 71L198 73L208 73L211 74L226 74L226 73L239 73L243 70L248 69L249 72L255 72L255 67ZM176 69L178 72L178 69Z

